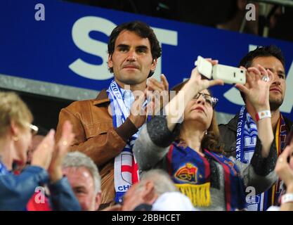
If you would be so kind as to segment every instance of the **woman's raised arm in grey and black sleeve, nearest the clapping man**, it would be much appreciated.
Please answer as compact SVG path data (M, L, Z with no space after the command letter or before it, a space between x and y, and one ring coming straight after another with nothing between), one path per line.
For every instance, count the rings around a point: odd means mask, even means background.
M217 63L216 61L211 62ZM202 79L195 68L191 73L190 80L181 89L182 91L179 91L164 107L164 113L167 116L155 116L143 127L133 149L141 170L155 167L164 158L171 142L178 135L179 127L176 125L180 122L187 103L197 92L216 84L223 84L223 81Z

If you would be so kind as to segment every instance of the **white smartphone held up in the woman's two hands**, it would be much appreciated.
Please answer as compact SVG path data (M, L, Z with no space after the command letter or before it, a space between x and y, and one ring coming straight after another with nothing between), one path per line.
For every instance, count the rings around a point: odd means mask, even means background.
M201 56L195 62L198 72L209 79L223 79L226 84L245 84L245 70L229 65L212 65Z

